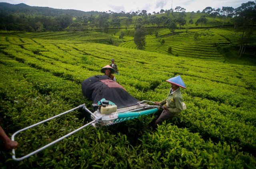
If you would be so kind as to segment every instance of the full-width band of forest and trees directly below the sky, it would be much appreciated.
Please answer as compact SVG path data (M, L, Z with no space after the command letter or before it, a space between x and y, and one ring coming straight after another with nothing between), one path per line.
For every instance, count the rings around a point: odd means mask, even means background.
M256 4L253 1L241 4L238 8L206 7L202 12L185 12L177 6L174 9L147 13L138 10L129 13L83 12L79 10L60 10L48 7L32 7L26 4L8 4L0 2L0 30L5 31L88 31L92 28L106 30L109 28L134 28L136 23L148 27L165 27L176 29L184 25L202 27L203 24L218 20L234 27L253 26L256 20ZM212 24L211 26L216 26Z

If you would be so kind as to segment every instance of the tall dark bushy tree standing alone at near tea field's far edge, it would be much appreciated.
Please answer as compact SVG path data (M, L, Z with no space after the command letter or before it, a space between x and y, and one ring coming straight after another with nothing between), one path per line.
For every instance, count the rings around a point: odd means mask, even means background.
M134 43L136 44L137 49L145 49L146 45L146 29L142 24L135 26L134 32Z

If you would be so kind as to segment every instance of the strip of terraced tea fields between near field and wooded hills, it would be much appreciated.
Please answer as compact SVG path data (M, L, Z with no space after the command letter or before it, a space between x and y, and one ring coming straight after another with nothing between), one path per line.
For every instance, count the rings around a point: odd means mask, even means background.
M121 32L125 32L124 38L120 39ZM144 51L162 53L169 56L201 59L205 61L216 61L220 63L236 63L246 65L256 65L254 59L254 46L256 41L248 43L246 54L239 57L239 44L237 39L242 32L232 28L210 28L210 29L185 29L179 30L174 35L166 28L147 28L146 47ZM153 32L158 31L158 37ZM194 39L194 33L198 32L199 37ZM12 33L13 37L37 38L37 39L60 39L76 41L76 43L93 42L108 45L116 45L128 49L136 49L133 41L134 28L131 29L111 29L107 33L88 32L47 32L47 33ZM2 36L7 36L2 34ZM252 35L256 39L255 34ZM162 40L164 39L164 43ZM172 52L168 48L172 47Z

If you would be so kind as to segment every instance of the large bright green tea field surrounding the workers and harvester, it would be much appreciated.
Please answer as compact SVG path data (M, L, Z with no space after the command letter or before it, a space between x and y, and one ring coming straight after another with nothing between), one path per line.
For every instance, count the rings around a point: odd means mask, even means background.
M105 128L90 126L19 162L2 151L1 167L256 167L255 66L116 47L85 40L86 35L1 34L0 121L9 135L80 104L90 108L81 83L102 74L100 69L112 58L120 70L117 82L138 100L164 99L170 89L165 80L180 75L187 87L181 90L187 110L156 131L148 124L159 112ZM28 130L16 138L16 155L34 151L88 121L80 110Z

